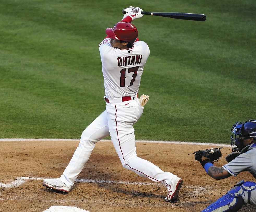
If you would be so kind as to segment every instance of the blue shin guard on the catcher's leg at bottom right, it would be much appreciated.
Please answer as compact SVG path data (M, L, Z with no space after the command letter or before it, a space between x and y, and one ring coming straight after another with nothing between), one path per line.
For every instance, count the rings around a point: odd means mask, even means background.
M244 204L250 203L251 190L256 189L256 183L241 180L224 196L209 205L201 212L235 212Z

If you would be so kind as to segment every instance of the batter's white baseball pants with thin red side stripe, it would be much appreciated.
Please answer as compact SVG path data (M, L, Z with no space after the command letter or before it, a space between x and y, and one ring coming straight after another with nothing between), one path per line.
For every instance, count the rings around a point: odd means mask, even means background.
M153 163L137 157L133 124L137 122L143 112L139 99L132 96L130 101L122 102L122 98L109 99L106 110L100 114L82 133L79 146L70 160L67 168L59 178L69 188L82 171L90 158L95 144L110 135L115 150L124 168L141 177L147 177L165 186L170 185L175 175L164 172Z

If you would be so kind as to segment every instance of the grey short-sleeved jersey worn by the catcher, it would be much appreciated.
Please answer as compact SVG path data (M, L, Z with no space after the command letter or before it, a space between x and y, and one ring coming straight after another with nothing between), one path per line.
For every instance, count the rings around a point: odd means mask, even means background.
M247 152L238 155L222 167L235 177L242 171L248 171L256 179L256 143L251 144Z

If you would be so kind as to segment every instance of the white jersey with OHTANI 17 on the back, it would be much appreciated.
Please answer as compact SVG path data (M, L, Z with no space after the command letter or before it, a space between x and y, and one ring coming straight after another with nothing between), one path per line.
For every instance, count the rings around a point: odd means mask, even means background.
M105 38L99 45L99 51L106 97L136 95L150 54L148 45L139 40L132 48L120 50L111 46L110 38Z

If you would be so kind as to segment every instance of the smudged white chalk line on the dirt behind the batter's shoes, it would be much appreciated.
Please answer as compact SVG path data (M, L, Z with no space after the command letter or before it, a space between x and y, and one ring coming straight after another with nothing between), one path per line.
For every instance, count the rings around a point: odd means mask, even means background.
M17 187L27 180L44 180L44 177L19 177L17 180L12 181L11 183L0 183L0 187L4 188L13 188ZM129 181L114 181L114 180L93 180L93 179L78 179L76 182L84 182L84 183L110 183L110 184L121 184L121 185L155 185L155 186L164 186L160 183L147 183L147 182L129 182ZM203 186L193 186L193 185L183 185L182 187L187 187L190 189L201 190L204 191L209 189L209 187Z

